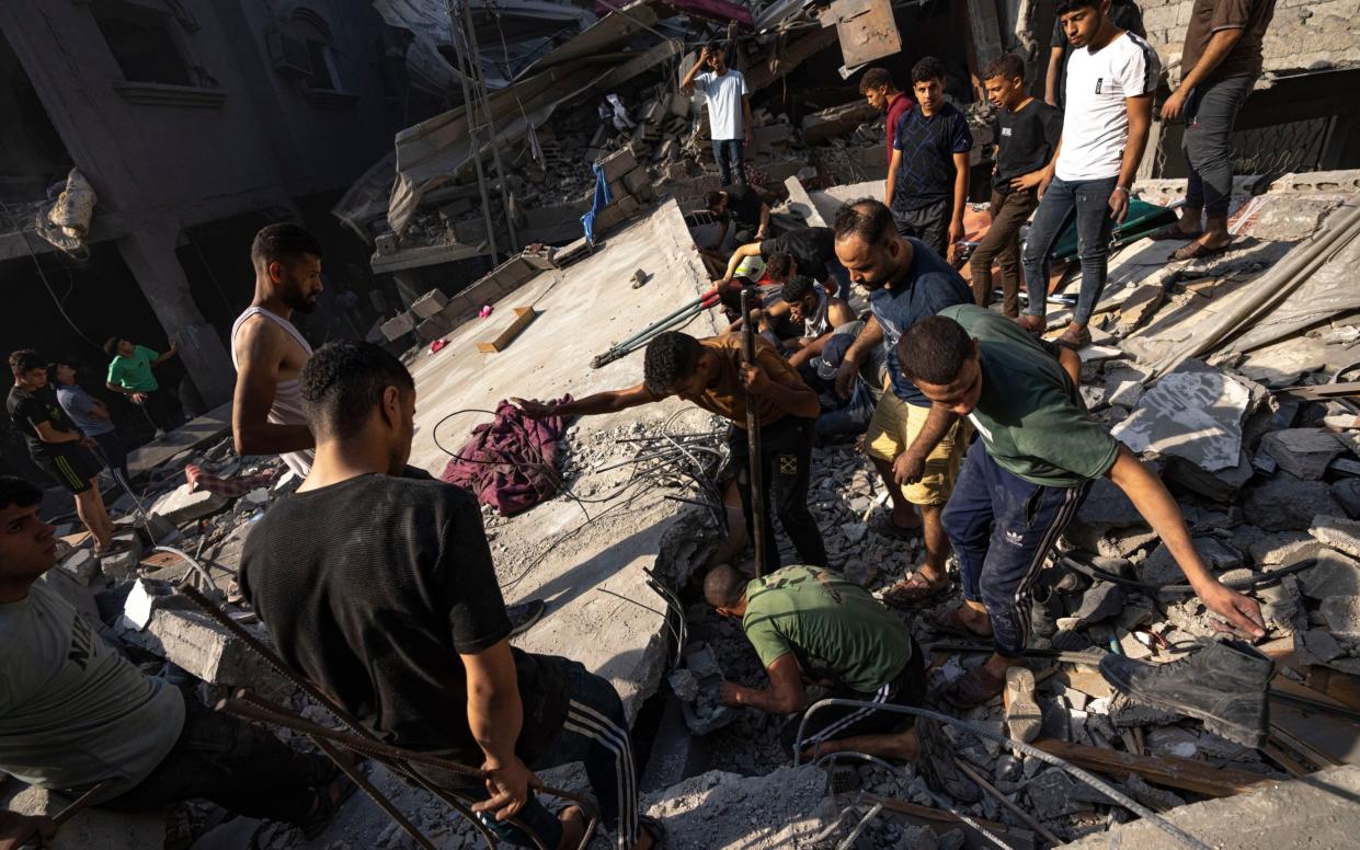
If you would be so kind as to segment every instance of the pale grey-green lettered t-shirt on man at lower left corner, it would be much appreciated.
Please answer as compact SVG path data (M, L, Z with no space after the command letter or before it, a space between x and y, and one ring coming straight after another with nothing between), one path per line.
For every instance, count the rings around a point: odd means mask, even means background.
M0 604L0 772L53 789L110 779L101 802L146 779L182 728L180 692L143 675L42 581Z

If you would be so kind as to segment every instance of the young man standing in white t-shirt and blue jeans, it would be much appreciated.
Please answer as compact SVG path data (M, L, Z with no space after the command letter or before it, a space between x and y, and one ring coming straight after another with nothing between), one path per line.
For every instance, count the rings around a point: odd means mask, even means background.
M1081 294L1072 324L1057 341L1080 348L1091 341L1087 324L1104 290L1110 231L1129 214L1129 189L1148 144L1161 65L1148 42L1114 24L1110 0L1059 0L1058 18L1074 48L1068 60L1068 109L1025 242L1030 305L1019 322L1031 333L1044 329L1049 254L1076 211Z

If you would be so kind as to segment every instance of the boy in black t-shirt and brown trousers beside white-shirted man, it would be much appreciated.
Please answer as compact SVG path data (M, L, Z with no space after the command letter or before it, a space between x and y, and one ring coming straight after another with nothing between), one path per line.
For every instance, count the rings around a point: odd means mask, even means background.
M1001 265L1004 310L1020 316L1020 227L1039 205L1038 186L1053 166L1062 139L1062 113L1025 92L1024 60L1015 53L982 72L997 107L997 163L991 173L991 226L972 252L972 294L991 303L991 261Z

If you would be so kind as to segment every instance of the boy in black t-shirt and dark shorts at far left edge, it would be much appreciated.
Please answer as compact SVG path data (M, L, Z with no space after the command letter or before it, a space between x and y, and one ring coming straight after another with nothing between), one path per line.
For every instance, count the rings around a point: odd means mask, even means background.
M114 551L113 522L103 507L98 475L103 469L90 452L94 439L80 432L48 386L48 364L37 351L26 348L10 355L14 388L5 409L15 431L29 443L33 462L42 466L76 498L76 514L94 539L95 555Z

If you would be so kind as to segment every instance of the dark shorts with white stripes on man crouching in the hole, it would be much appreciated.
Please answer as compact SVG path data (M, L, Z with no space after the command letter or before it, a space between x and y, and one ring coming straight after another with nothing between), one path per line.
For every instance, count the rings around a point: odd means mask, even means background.
M902 668L898 677L883 685L873 694L861 694L849 688L836 690L827 694L835 699L854 699L860 702L881 703L891 706L918 707L926 698L926 664L921 646L911 641L911 658ZM798 738L798 725L804 714L797 714L781 730L781 740L785 749L793 752ZM804 749L819 741L834 741L838 738L854 737L857 734L887 734L891 732L906 732L915 726L914 714L899 711L876 711L861 706L827 706L808 719L802 729L801 745Z

